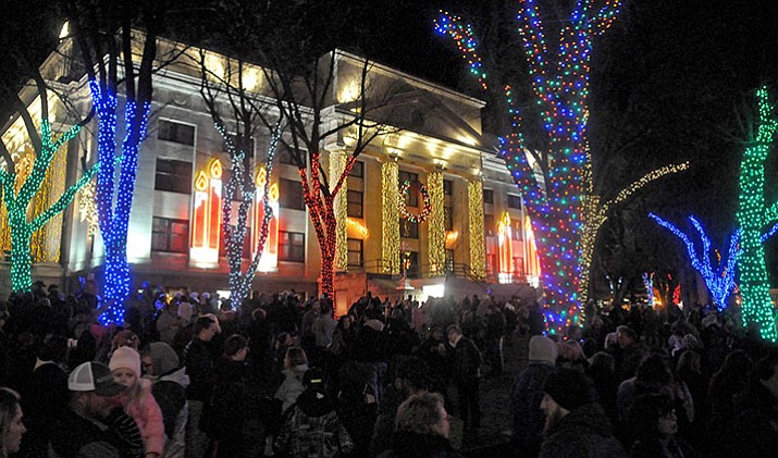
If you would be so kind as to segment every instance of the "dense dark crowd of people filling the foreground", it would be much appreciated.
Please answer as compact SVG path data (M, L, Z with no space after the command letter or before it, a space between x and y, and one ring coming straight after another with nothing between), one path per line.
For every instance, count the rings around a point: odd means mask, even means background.
M335 320L328 297L234 307L145 285L121 326L99 324L100 306L41 283L0 305L0 458L778 450L778 354L737 309L591 305L556 336L516 297L368 293ZM506 383L510 440L461 450L483 433L482 380L506 379L507 345L527 348Z

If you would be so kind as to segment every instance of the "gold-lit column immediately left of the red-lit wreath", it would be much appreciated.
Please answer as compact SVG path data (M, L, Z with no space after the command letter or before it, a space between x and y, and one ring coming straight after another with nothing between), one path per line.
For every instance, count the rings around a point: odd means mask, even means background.
M381 165L381 269L383 273L399 273L399 165L387 161Z

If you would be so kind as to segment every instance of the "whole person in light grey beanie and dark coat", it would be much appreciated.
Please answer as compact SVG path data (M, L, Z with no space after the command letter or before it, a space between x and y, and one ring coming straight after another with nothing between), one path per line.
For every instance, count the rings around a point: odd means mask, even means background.
M542 442L543 385L556 370L558 347L542 335L530 337L529 364L519 373L510 389L510 438L528 456L538 455Z

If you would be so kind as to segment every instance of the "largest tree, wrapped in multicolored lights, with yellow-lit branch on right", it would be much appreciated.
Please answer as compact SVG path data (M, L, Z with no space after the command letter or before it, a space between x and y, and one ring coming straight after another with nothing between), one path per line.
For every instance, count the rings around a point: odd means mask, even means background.
M535 102L532 104L541 112L547 147L540 151L529 148L514 90L504 85L510 127L501 138L501 157L523 194L532 221L546 294L546 326L552 333L563 333L584 319L581 299L588 298L591 255L607 210L652 180L687 165L654 171L625 188L614 200L601 203L601 197L594 195L586 139L589 63L593 39L614 23L621 1L604 0L598 7L594 0L579 1L567 20L561 21L556 48L546 45L536 3L521 2L518 30L529 63ZM456 41L470 72L485 89L487 75L477 51L472 26L443 13L435 28Z

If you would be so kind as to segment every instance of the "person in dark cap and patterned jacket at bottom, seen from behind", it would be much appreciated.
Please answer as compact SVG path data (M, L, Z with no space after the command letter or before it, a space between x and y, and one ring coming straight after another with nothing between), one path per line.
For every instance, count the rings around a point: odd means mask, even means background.
M348 432L335 411L335 400L326 394L323 373L309 370L305 391L284 413L274 448L291 458L347 456L354 448Z

